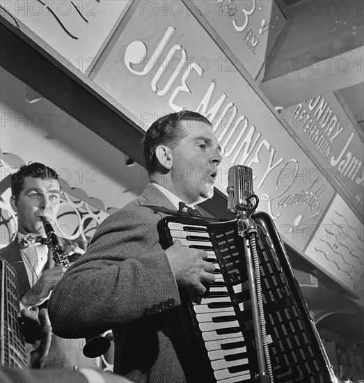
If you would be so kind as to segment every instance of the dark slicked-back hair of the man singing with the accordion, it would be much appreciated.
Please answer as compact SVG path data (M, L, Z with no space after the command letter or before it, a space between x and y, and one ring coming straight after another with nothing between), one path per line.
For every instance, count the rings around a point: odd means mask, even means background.
M195 111L183 110L158 118L145 133L143 138L143 157L145 169L152 174L157 169L157 157L155 150L159 145L166 145L174 149L178 143L187 135L181 123L182 121L198 121L201 125L211 123L207 118Z

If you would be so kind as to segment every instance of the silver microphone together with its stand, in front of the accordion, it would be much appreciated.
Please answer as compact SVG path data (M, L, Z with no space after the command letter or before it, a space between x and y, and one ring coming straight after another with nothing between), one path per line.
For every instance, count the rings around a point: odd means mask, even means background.
M259 259L255 245L255 235L258 234L258 229L255 221L251 218L251 215L258 206L259 198L253 194L252 171L248 166L232 166L229 169L228 179L228 210L237 215L237 232L244 242L255 345L258 357L258 374L255 376L255 381L258 383L269 383L270 377L266 364L266 354L268 354L267 357L269 358L269 350L265 350L264 354L264 343L266 343L264 312L262 308ZM255 199L255 205L251 203L252 198Z

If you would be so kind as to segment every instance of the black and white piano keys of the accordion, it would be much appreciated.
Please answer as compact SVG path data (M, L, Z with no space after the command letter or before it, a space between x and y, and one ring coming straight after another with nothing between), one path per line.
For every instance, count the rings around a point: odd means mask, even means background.
M207 261L215 266L215 282L209 286L207 294L199 299L200 302L193 303L193 311L216 382L235 383L250 380L244 336L207 228L177 222L169 222L168 228L173 240L180 240L182 247L205 250Z

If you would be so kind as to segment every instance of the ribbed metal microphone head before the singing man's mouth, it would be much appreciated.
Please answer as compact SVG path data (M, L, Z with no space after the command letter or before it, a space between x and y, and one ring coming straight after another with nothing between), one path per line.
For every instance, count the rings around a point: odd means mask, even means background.
M228 210L237 215L252 212L258 205L253 192L253 172L248 166L235 165L228 173ZM251 198L255 198L255 205Z

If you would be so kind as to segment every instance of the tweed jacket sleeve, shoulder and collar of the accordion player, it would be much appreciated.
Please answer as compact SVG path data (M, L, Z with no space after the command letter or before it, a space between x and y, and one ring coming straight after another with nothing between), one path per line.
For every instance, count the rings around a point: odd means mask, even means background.
M146 205L173 209L148 185L139 198L102 221L84 256L54 288L49 315L56 334L90 336L140 320L152 307L168 311L180 304L171 264L159 244L162 214Z

